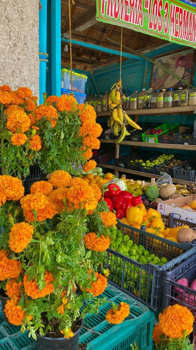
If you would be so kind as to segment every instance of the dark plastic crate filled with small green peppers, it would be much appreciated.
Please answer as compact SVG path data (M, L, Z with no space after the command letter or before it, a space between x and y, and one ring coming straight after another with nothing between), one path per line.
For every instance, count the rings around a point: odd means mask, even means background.
M150 263L142 265L109 248L104 259L104 267L110 270L108 280L153 310L160 309L163 272L196 254L196 247L190 243L175 243L124 224L118 224L118 228L134 243L143 245L151 253L165 257L169 262L163 266Z

